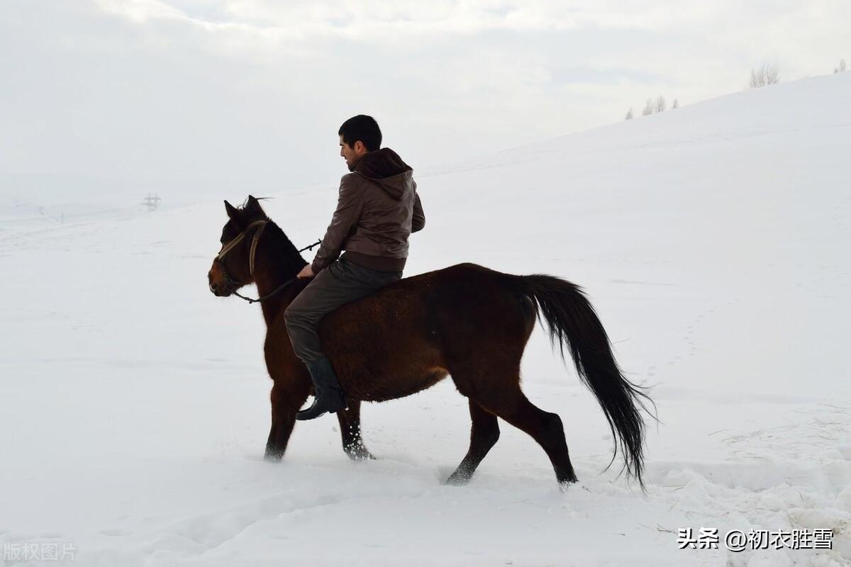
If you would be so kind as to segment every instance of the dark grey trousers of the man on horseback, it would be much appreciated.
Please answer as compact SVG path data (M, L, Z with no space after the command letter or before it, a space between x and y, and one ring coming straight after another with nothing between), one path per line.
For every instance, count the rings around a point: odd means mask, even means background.
M364 298L398 281L402 272L381 272L340 258L320 271L283 313L296 356L306 365L323 358L317 329L322 318L341 305Z

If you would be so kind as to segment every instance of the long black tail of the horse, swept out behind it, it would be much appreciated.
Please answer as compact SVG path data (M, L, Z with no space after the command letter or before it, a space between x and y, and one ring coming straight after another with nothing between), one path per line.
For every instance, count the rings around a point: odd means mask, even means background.
M523 294L534 302L536 315L546 320L550 340L558 343L562 359L567 344L580 379L603 408L614 436L614 452L608 466L620 447L626 473L643 486L644 421L639 407L654 417L645 405L645 401L653 404L653 400L643 387L621 373L606 330L579 286L551 275L518 277Z

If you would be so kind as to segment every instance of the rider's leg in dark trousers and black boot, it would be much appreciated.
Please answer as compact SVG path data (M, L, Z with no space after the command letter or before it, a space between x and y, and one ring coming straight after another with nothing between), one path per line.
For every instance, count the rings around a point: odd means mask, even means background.
M289 338L295 354L310 371L316 391L313 405L296 414L297 419L312 419L346 407L334 367L322 352L317 334L319 321L341 305L366 297L401 277L401 272L379 272L338 260L319 272L289 304L283 315Z

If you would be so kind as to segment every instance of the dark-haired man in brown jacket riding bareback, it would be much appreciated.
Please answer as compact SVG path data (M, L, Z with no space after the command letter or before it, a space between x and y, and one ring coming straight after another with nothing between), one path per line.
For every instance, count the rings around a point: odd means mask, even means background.
M298 275L313 280L283 315L316 392L313 405L295 414L300 420L346 407L334 366L322 352L319 321L340 305L401 279L408 235L426 224L414 170L395 151L381 148L378 123L371 116L354 116L338 133L340 156L351 173L340 179L337 210L316 258Z

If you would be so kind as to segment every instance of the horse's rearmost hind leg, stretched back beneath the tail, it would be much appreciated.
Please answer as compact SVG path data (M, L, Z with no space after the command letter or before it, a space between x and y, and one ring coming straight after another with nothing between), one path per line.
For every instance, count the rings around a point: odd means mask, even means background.
M541 410L528 400L520 389L519 373L502 370L489 372L485 376L488 376L488 379L475 383L469 382L469 378L453 378L462 394L467 390L469 393L466 395L476 400L485 410L531 435L550 457L559 483L576 482L561 417Z

